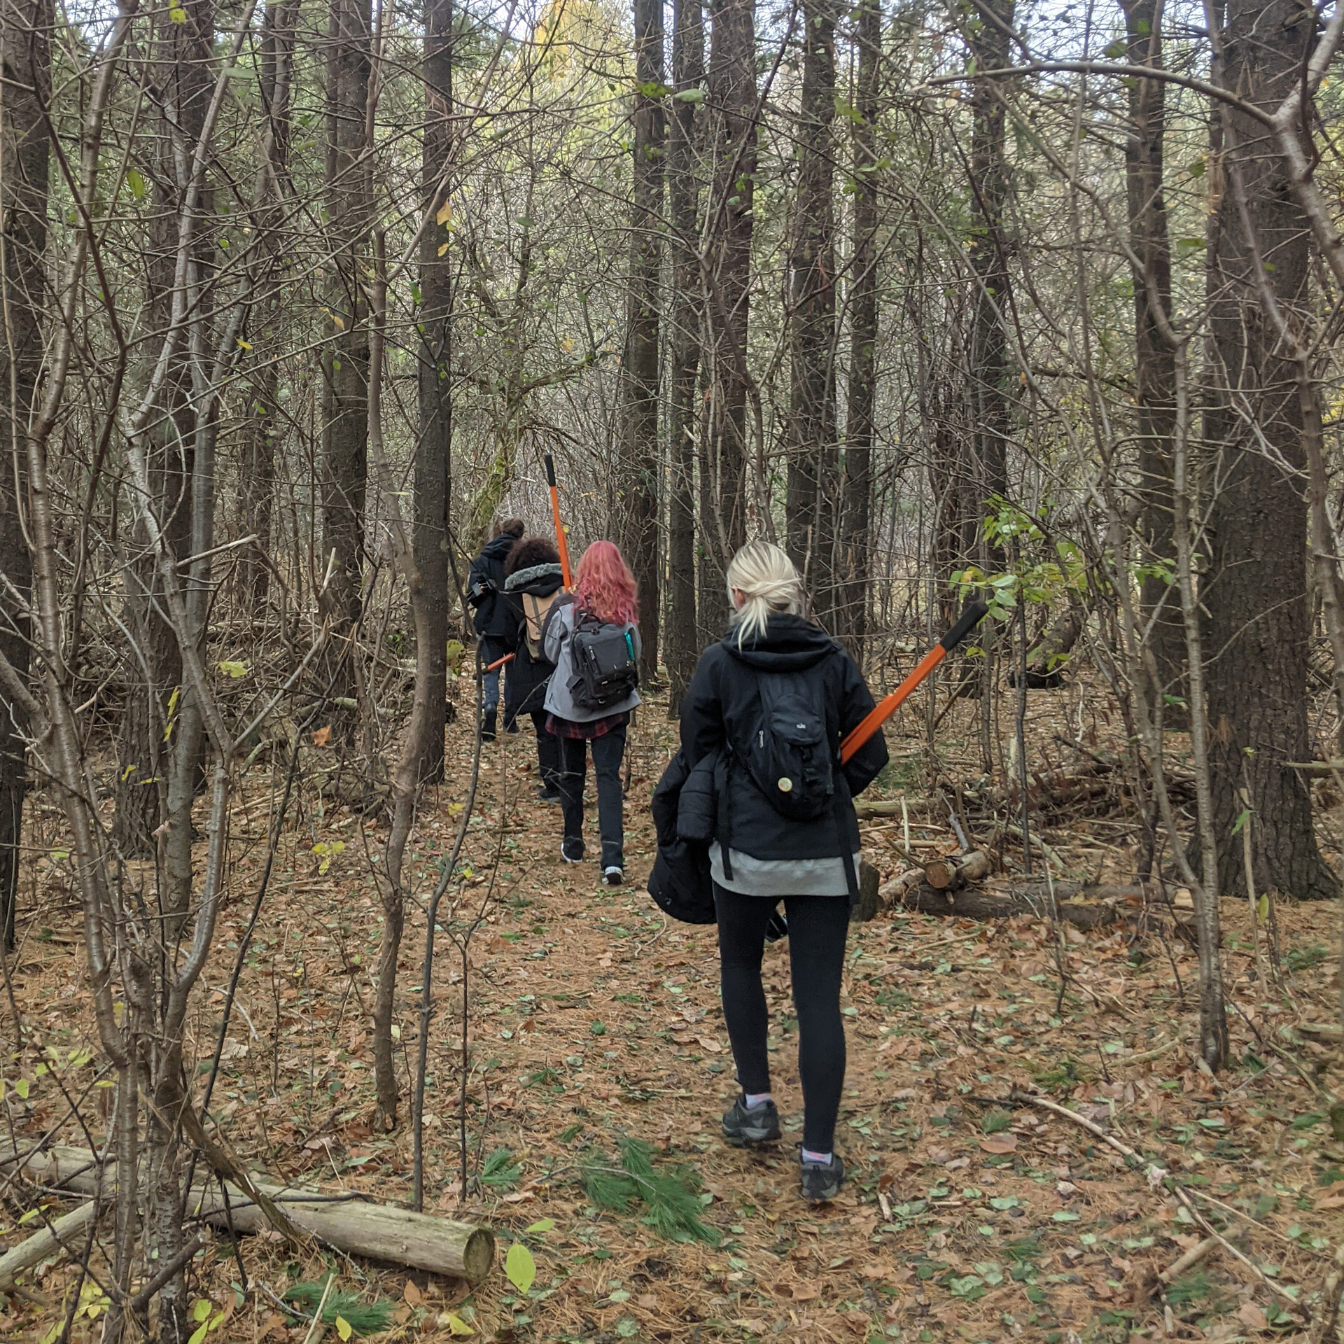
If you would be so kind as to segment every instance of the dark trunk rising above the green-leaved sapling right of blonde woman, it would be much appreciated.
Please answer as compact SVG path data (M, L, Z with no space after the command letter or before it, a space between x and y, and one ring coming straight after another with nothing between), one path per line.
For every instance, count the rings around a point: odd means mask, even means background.
M970 52L977 70L1003 70L1011 63L1008 31L1013 0L976 0ZM972 87L970 132L970 265L976 276L970 327L972 431L976 491L981 512L995 495L1008 491L1008 345L1005 324L1012 293L1004 203L1008 198L1008 156L1003 83L1007 77L977 79Z

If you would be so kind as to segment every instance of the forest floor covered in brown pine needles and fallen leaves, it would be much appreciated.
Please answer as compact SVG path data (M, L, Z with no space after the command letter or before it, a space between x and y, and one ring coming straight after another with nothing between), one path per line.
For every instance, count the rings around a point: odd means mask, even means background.
M468 683L461 699L468 703ZM1071 695L1068 714L1085 699ZM961 712L960 708L957 712ZM973 707L966 708L970 722ZM1089 714L1091 710L1087 711ZM1051 753L1064 702L1034 695L1034 758ZM464 718L466 718L464 715ZM913 800L911 837L956 849L917 800L915 716L891 734L895 763L879 793ZM1081 718L1074 730L1082 731ZM977 753L958 738L945 757ZM797 1193L802 1099L788 943L767 949L771 1058L785 1137L774 1150L730 1148L719 1114L735 1094L718 995L712 929L669 923L642 882L653 857L648 798L675 741L661 706L632 731L628 862L632 884L599 887L591 862L559 859L559 812L535 801L530 734L485 749L462 863L470 870L439 922L438 1012L426 1093L426 1208L489 1223L497 1271L474 1290L390 1266L329 1263L343 1289L391 1309L379 1337L448 1340L710 1341L1305 1339L1297 1297L1318 1290L1340 1241L1344 1146L1331 1138L1328 1097L1344 1090L1336 1047L1304 1042L1298 1021L1337 1019L1339 911L1279 905L1282 988L1257 982L1242 902L1224 902L1232 1066L1196 1064L1196 960L1179 938L1126 921L1060 935L1046 921L976 923L888 911L852 926L844 980L848 1078L837 1133L851 1180L821 1208ZM1095 742L1095 735L1091 741ZM1058 754L1058 749L1055 749ZM450 784L425 800L414 840L417 894L427 895L466 796L470 737L449 730ZM277 762L278 775L282 763ZM945 759L946 769L946 759ZM194 1067L208 1067L223 986L265 856L274 780L254 767L235 813L246 851L191 1024ZM590 786L591 792L591 786ZM370 969L379 914L374 863L386 829L310 801L286 832L271 894L246 958L212 1116L230 1145L277 1180L402 1200L411 1141L372 1129ZM595 816L590 813L590 828ZM43 833L47 827L51 833ZM884 874L903 862L899 821L866 825ZM1134 836L1114 813L1051 829L1075 874L1133 878ZM66 1114L97 1059L82 981L78 914L54 818L38 813L22 948L11 958L23 1015L22 1055L5 1070L12 1132L51 1126L85 1142ZM594 847L595 848L595 847ZM462 953L452 935L484 913L468 952L466 1138L460 1199ZM409 921L399 996L403 1064L413 1067L423 914ZM8 1011L4 1013L12 1032ZM52 1054L51 1051L55 1051ZM1146 1058L1145 1058L1146 1056ZM40 1075L44 1059L50 1073ZM199 1063L198 1063L199 1062ZM403 1087L407 1079L403 1071ZM15 1087L30 1079L26 1097ZM1032 1090L1093 1120L1165 1168L1192 1214L1160 1179L1070 1118L1013 1105ZM403 1091L405 1095L405 1091ZM105 1121L93 1117L101 1137ZM613 1167L622 1136L653 1150L699 1192L712 1241L668 1239L636 1200L594 1204L585 1168ZM480 1177L484 1176L484 1183ZM7 1196L12 1200L12 1195ZM52 1214L59 1204L52 1206ZM19 1206L8 1206L8 1219ZM1218 1230L1215 1245L1161 1288L1157 1273ZM11 1226L7 1245L30 1231ZM504 1273L521 1242L536 1265L530 1292ZM192 1292L223 1317L215 1340L308 1340L277 1298L324 1273L265 1236L216 1242L192 1269ZM47 1267L30 1288L60 1304L73 1270ZM52 1321L11 1297L0 1333L46 1337ZM95 1337L81 1317L75 1339ZM336 1331L329 1329L335 1339Z

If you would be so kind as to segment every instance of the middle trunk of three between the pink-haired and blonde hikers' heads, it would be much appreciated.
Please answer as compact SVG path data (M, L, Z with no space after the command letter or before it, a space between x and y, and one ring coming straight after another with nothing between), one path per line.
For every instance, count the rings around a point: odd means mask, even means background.
M668 378L668 625L663 640L671 679L668 710L676 714L695 672L695 384L700 368L700 149L704 82L702 0L675 0L672 30L672 125L668 195L672 239L672 331Z

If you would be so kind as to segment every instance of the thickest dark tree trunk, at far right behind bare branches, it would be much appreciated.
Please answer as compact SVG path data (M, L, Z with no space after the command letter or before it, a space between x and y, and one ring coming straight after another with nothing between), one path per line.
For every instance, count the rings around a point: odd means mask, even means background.
M1310 11L1289 0L1232 0L1223 34L1226 85L1277 108L1300 78L1310 23ZM1216 485L1199 587L1218 886L1224 895L1246 894L1242 843L1232 833L1245 786L1255 820L1257 888L1318 899L1336 895L1337 883L1316 845L1306 786L1285 765L1310 754L1302 407L1292 353L1265 312L1254 266L1258 249L1273 267L1279 310L1304 313L1309 233L1265 129L1235 109L1222 124L1235 173L1223 175L1210 269L1215 358L1204 437L1215 457L1204 474Z

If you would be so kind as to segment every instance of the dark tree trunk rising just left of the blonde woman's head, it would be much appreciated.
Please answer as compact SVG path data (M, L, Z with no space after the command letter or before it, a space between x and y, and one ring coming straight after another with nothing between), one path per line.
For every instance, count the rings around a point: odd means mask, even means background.
M755 12L753 0L711 0L708 102L712 188L708 202L706 325L708 433L700 460L700 613L723 632L723 574L746 542L747 320L751 312L751 202L757 172Z

